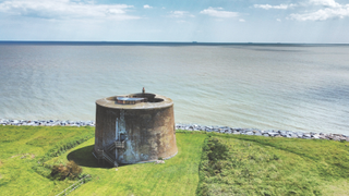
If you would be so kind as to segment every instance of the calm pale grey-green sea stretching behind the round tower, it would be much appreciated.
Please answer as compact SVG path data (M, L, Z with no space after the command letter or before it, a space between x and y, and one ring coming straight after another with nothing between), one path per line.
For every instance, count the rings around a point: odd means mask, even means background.
M178 123L349 134L349 46L0 45L0 119L94 120L143 86Z

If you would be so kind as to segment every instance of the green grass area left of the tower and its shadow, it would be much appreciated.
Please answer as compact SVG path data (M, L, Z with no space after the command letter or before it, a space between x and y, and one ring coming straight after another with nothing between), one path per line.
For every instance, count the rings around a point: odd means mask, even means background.
M0 195L59 193L73 181L49 180L38 162L93 136L94 127L0 126Z

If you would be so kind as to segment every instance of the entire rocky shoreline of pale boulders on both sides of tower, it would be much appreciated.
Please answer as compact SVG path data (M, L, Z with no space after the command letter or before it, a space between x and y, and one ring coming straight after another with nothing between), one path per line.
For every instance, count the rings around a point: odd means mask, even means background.
M60 121L60 120L8 120L0 119L0 125L14 125L14 126L95 126L94 121ZM176 130L186 131L204 131L217 132L225 134L242 134L255 135L265 137L289 137L289 138L305 138L305 139L332 139L340 142L349 142L349 135L345 134L328 134L328 133L304 133L291 132L282 130L258 130L258 128L240 128L229 126L205 126L197 124L176 124Z

